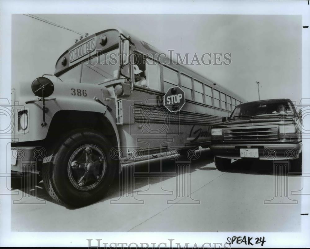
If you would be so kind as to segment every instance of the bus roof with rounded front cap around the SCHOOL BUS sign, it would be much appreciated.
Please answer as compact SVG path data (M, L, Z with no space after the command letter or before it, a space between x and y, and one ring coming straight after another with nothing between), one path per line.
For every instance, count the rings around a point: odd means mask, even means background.
M85 57L82 56L82 57L78 58L77 60L72 61L70 58L70 52L73 53L78 48L82 48L82 46L84 44L88 43L89 41L92 41L93 39L95 39L94 50L95 49L101 49L102 51L103 50L108 51L108 50L118 46L118 39L119 39L120 34L124 35L127 38L130 38L131 46L132 46L134 51L137 51L137 52L140 52L143 54L147 54L150 58L158 58L157 56L159 56L159 54L161 53L157 48L155 48L152 45L148 44L147 42L144 42L143 40L137 38L135 35L133 35L130 32L127 32L124 29L121 29L121 28L105 29L103 31L100 31L98 33L95 33L95 34L92 34L90 36L83 38L82 40L78 41L73 46L71 46L68 50L66 50L59 57L59 59L56 62L55 75L58 76L58 75L62 74L64 71L68 70L70 67L79 63L81 60L84 61L87 59L87 56L85 56ZM99 37L102 35L106 35L106 37L107 37L107 43L104 45L104 47L102 45L100 45L100 41L99 41L100 40ZM66 65L62 65L62 61L64 60L63 58L65 58L65 60L67 61ZM226 88L216 84L215 82L207 79L206 77L204 77L204 76L200 75L199 73L189 69L188 67L181 65L181 64L178 64L176 61L174 61L171 58L161 56L160 61L158 61L158 62L160 62L161 64L168 64L167 66L169 68L176 70L181 74L188 75L188 76L192 77L193 79L196 79L197 81L205 83L205 84L209 85L210 87L212 87L218 91L221 91L225 94L228 94L229 96L234 97L241 102L247 102L245 98L237 95L236 93L233 93L233 92L227 90Z

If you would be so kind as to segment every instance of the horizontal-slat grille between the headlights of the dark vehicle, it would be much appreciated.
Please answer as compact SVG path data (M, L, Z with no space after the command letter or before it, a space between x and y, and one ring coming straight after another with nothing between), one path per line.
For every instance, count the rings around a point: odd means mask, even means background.
M275 140L277 138L277 127L224 129L224 140Z

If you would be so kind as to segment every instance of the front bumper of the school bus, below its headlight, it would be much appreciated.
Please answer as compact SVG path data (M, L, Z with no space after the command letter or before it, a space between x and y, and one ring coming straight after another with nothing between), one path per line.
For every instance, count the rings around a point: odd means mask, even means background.
M11 170L38 173L45 154L42 147L11 147Z

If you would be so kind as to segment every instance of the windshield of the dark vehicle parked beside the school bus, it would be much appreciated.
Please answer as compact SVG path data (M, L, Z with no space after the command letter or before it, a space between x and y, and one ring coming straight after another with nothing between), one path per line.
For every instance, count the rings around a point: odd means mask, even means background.
M244 103L235 108L230 119L256 116L294 115L294 106L286 100Z

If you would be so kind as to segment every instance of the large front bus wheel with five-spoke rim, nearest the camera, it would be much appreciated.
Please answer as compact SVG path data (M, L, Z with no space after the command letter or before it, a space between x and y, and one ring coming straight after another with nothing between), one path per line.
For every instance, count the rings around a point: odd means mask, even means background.
M54 148L51 164L42 168L43 183L57 202L85 206L100 200L116 174L111 143L91 129L75 130Z

